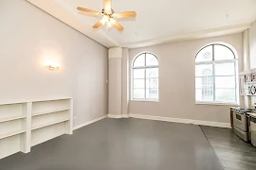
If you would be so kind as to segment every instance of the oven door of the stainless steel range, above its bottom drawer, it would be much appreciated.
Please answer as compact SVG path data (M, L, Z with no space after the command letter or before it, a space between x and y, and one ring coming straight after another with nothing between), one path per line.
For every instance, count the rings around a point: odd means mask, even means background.
M234 126L239 130L247 131L247 114L237 110L234 110L233 114Z

